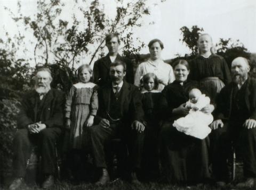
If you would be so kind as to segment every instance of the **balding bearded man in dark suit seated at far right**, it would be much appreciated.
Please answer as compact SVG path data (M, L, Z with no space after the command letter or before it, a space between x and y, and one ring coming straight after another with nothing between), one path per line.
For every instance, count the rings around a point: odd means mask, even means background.
M213 130L219 131L219 152L213 160L216 163L213 171L217 171L215 175L220 177L220 182L225 180L223 174L227 175L228 171L225 146L233 141L244 162L245 181L237 184L241 188L253 187L256 177L256 80L249 77L249 71L246 58L237 57L231 63L233 82L221 90L217 117L211 124Z

